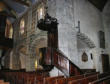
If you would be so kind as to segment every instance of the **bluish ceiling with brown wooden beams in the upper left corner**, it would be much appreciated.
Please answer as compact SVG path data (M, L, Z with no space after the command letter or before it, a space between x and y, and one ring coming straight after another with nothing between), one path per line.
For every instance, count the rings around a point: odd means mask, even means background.
M0 0L0 3L5 5L5 11L8 15L19 17L21 16L30 4L37 0ZM1 7L2 5L0 5Z

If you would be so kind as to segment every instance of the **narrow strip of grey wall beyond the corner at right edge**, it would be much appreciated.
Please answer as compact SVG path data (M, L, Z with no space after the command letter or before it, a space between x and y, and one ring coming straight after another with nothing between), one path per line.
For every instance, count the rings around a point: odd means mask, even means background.
M103 10L103 24L105 30L106 53L109 54L109 59L110 59L110 11L109 10L110 10L110 1L108 0Z

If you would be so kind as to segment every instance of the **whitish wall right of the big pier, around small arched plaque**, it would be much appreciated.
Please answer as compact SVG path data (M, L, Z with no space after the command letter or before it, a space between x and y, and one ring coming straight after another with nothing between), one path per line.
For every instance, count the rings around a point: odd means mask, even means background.
M80 21L80 32L84 33L91 41L94 42L95 48L89 48L89 46L82 40L78 40L78 56L79 56L79 66L80 68L96 69L101 71L101 51L103 49L99 46L99 36L98 32L104 31L102 13L93 6L87 0L74 0L74 18L75 27L78 26L78 21ZM88 62L82 62L81 56L83 52L87 52ZM93 60L91 59L91 54L93 55Z

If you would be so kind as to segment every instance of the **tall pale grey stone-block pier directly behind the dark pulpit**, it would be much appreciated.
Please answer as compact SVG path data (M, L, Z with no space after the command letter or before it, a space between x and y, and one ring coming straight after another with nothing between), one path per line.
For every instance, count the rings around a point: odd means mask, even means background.
M49 0L48 13L58 19L59 49L78 65L77 32L74 26L74 0Z

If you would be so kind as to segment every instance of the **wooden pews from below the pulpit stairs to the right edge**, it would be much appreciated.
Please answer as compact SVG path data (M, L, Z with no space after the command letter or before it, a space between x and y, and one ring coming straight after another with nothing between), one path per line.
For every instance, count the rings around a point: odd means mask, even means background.
M44 78L43 84L110 84L110 73L87 73L83 75Z

